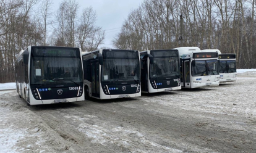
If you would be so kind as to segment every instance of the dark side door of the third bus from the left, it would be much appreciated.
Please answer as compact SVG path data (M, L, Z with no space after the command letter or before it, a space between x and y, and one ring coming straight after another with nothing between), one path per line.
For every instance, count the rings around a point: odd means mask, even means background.
M142 59L140 60L141 65L141 77L142 77L142 91L148 91L148 65L147 65L148 59Z

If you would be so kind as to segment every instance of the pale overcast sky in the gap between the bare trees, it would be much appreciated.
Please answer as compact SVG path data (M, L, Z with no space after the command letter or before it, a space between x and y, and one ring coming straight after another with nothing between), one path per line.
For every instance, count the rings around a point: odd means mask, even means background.
M105 46L114 48L112 41L114 36L119 33L122 23L127 19L131 10L137 9L143 0L76 0L79 3L79 12L86 7L93 7L96 10L96 25L106 30ZM62 0L54 0L53 8L58 9ZM79 14L80 16L80 14ZM112 30L113 29L113 30Z

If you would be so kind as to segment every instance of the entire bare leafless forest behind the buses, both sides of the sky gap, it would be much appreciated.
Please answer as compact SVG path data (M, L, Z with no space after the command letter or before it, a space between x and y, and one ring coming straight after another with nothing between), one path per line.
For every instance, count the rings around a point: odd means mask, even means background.
M15 81L15 56L27 46L94 51L104 44L92 7L79 8L75 0L62 1L54 12L52 7L53 0L0 0L0 83ZM145 0L112 42L113 49L139 51L220 49L237 55L237 68L255 68L255 38L255 0Z

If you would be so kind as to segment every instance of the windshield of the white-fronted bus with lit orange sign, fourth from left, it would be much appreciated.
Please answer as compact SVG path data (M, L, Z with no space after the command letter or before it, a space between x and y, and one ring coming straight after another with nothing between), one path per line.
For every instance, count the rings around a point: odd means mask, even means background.
M192 76L218 75L218 60L195 60Z

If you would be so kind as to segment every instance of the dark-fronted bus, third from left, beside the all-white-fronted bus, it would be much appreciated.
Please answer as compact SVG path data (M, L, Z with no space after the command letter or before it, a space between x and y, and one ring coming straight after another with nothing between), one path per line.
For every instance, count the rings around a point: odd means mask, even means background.
M140 65L143 93L181 89L179 52L176 49L142 51Z

